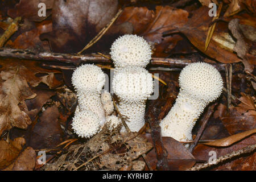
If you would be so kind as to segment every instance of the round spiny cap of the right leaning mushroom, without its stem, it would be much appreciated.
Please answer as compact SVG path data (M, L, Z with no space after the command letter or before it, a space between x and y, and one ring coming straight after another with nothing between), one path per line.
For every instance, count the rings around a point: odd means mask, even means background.
M183 68L179 76L180 89L207 103L218 98L223 81L220 73L208 63L192 63Z

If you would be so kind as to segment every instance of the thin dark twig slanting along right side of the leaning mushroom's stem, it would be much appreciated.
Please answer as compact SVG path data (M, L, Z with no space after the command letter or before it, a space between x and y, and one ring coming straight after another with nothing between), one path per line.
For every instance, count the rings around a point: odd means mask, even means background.
M191 144L191 146L189 146L189 152L193 152L193 150L195 149L197 143L199 142L200 138L202 137L203 133L204 133L204 130L207 126L207 123L210 119L210 117L212 116L213 112L214 112L214 107L217 105L218 103L215 102L214 104L210 105L208 107L208 110L207 110L207 113L204 115L204 117L201 119L201 121L203 121L203 124L202 126L200 127L200 130L199 132L197 133L196 135L196 138L195 138L195 142Z

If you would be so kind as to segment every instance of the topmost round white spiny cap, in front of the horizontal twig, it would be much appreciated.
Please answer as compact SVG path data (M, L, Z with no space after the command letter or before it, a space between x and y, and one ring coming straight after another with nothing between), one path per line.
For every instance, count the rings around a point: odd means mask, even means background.
M141 36L123 35L112 44L110 55L115 67L146 67L151 60L150 45Z

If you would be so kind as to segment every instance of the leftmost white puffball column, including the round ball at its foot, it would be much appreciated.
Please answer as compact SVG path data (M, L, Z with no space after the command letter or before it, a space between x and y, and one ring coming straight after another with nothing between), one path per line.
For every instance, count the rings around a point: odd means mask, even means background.
M91 137L105 123L105 112L100 96L105 84L105 75L100 67L84 64L73 72L72 84L75 86L79 102L73 118L73 129L81 137Z

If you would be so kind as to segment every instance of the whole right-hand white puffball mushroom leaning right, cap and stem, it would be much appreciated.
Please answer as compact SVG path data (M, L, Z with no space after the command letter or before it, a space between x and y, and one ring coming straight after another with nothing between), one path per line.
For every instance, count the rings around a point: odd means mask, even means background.
M192 140L192 129L204 108L218 98L223 81L207 63L192 63L179 76L180 92L175 105L160 123L163 137L185 142Z

